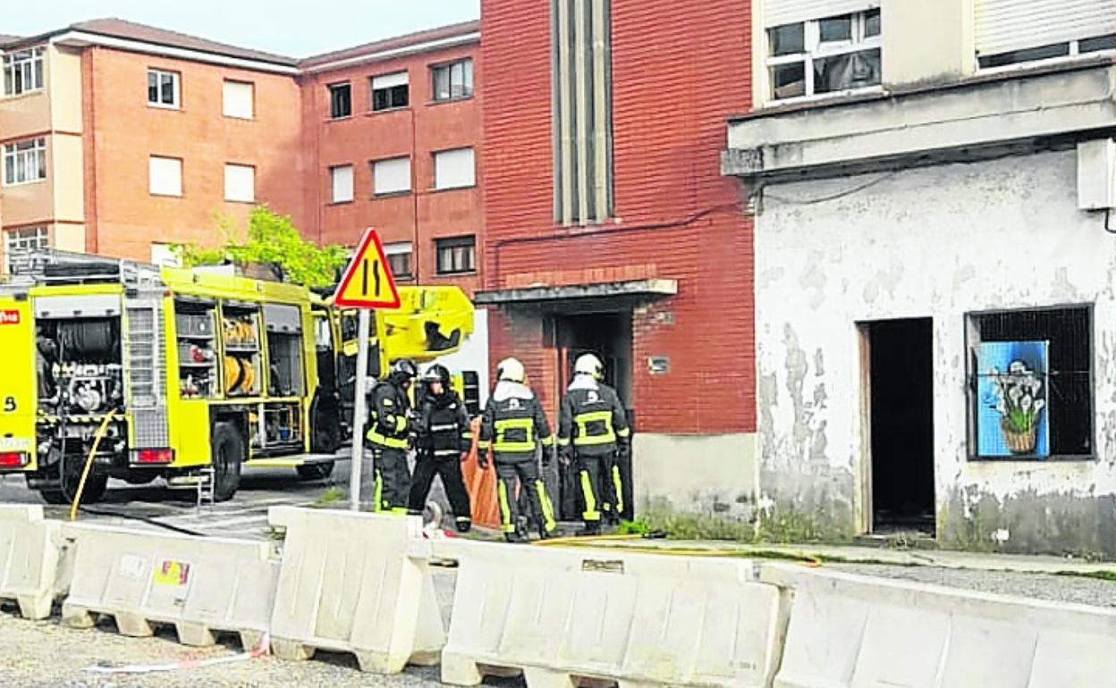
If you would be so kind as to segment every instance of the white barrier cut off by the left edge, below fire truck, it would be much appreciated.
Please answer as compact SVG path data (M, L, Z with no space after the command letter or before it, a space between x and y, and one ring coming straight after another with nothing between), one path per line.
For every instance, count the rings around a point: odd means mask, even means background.
M27 619L46 619L59 590L61 523L40 505L0 505L0 599Z

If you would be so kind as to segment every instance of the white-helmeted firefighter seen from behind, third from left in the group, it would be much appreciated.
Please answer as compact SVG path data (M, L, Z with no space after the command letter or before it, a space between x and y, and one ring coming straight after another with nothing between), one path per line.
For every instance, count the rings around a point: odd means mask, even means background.
M555 438L550 434L550 424L542 413L542 406L525 384L526 377L523 365L514 358L500 361L496 389L484 407L478 444L480 454L477 461L481 468L488 468L488 449L492 449L500 522L508 542L523 540L519 530L517 478L519 488L527 493L539 536L549 537L557 525L554 506L539 476L539 464L535 457L536 447L541 444L542 465L548 466L554 456Z

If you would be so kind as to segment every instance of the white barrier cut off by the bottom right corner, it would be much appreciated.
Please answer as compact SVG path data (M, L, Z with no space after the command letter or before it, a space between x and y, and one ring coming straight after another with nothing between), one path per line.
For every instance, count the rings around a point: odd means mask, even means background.
M1116 610L764 564L795 591L776 688L1091 688Z

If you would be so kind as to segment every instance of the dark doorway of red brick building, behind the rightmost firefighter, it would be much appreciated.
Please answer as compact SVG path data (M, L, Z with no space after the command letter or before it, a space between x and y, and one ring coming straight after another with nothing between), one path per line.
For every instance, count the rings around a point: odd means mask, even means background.
M605 384L615 388L634 423L632 409L632 313L614 311L602 313L579 313L555 316L555 343L558 348L559 388L555 399L561 398L574 377L574 364L583 353L595 353L605 364ZM622 516L631 520L632 508L632 462L620 466L624 486L624 511ZM581 517L581 493L579 482L573 471L559 472L559 513L564 521Z

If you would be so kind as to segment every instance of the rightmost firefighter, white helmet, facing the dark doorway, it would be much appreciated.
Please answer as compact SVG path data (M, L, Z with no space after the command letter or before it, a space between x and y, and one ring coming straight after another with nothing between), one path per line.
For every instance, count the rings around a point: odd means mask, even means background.
M619 459L627 456L632 440L619 397L602 382L603 377L599 358L579 357L558 415L558 452L562 463L574 463L580 478L587 535L600 533L602 520L619 523L624 511Z

